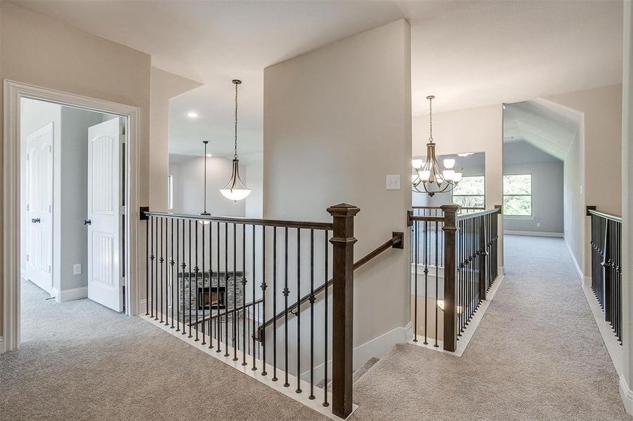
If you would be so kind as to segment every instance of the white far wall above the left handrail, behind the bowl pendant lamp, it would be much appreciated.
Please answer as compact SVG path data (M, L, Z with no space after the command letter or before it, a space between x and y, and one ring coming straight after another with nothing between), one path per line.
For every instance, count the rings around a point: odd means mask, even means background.
M178 163L176 163L178 162ZM220 189L228 182L233 162L219 156L207 158L207 212L215 216L244 216L245 201L230 201ZM240 166L240 175L246 174ZM204 157L172 159L169 173L174 176L174 213L197 215L204 210ZM248 185L247 179L242 179ZM165 182L167 185L167 181ZM250 187L250 186L249 186ZM167 199L166 203L167 203Z

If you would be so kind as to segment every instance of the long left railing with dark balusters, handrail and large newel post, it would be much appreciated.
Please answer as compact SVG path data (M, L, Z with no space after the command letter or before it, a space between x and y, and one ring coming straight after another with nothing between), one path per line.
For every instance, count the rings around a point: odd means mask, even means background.
M241 359L242 366L251 365L263 376L272 371L271 380L283 381L284 387L296 382L298 394L307 387L308 399L319 395L322 405L329 406L327 390L319 392L314 387L315 365L319 362L315 347L318 316L317 328L322 330L319 336L323 343L316 345L322 346L324 384L327 385L329 375L331 338L332 413L345 419L352 411L353 397L354 218L359 211L341 203L327 208L332 222L296 222L150 212L141 208L141 220L147 222L145 316L164 328L180 331L192 341L202 341L198 342L200 345L208 344L209 349L224 352L226 359ZM317 267L317 262L322 266ZM325 309L316 316L315 276L322 276L326 283ZM330 277L331 303L327 291ZM301 287L306 288L308 281L309 363L302 359L300 312L294 323L296 349L292 349L295 361L291 363L288 312L281 321L285 331L282 346L277 329L273 330L271 344L266 335L257 341L256 333L270 314L277 315L280 300L288 307L291 293L301 299ZM332 320L328 320L330 312ZM267 352L273 353L272 359ZM304 380L306 368L309 383Z

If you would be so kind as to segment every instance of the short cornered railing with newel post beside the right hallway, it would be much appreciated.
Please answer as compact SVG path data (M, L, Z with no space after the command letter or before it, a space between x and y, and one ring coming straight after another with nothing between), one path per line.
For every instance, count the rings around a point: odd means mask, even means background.
M415 215L415 210L408 214L412 227L413 340L418 342L418 330L423 328L424 345L431 339L433 346L439 347L442 335L443 349L455 352L459 337L498 276L497 216L501 207L461 214L455 203L440 209L431 215ZM422 280L424 305L419 308ZM419 312L424 324L419 323Z

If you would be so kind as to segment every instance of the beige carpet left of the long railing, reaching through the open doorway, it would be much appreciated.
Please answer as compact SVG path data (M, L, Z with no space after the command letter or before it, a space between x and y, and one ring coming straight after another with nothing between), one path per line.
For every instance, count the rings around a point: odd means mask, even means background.
M327 420L138 317L22 281L0 420Z

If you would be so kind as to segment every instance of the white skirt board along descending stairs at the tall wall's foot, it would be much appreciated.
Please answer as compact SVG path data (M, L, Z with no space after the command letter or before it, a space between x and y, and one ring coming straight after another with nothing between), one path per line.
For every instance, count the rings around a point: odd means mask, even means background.
M400 326L398 328L394 328L389 330L389 332L383 333L380 336L372 340L368 340L363 345L358 345L353 350L353 367L352 370L358 370L363 364L374 357L382 358L384 354L391 351L393 345L396 344L405 344L408 342L409 338L413 335L413 322L410 321L407 323L407 326ZM318 366L314 367L315 376L314 382L315 384L323 380L323 376L321 374L321 368L325 366L325 363L321 363ZM301 373L301 377L310 376L310 370L304 371ZM327 361L327 376L328 382L332 380L332 360Z

